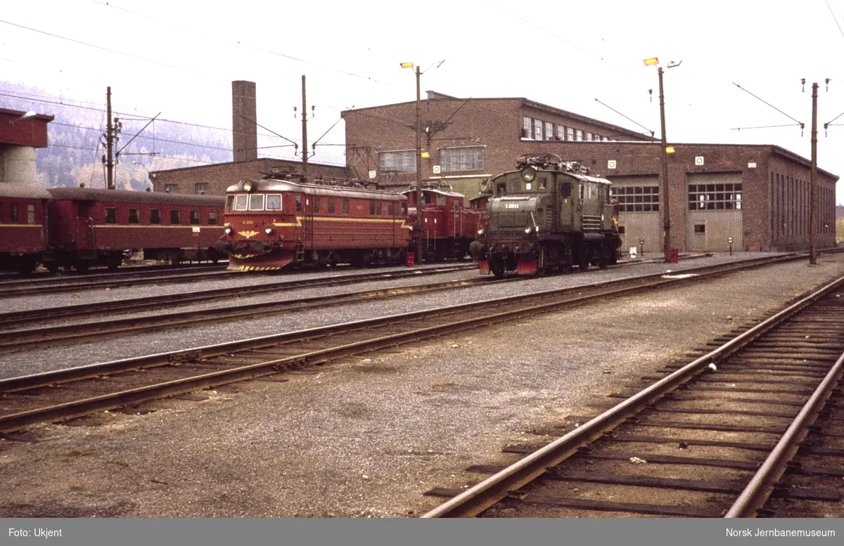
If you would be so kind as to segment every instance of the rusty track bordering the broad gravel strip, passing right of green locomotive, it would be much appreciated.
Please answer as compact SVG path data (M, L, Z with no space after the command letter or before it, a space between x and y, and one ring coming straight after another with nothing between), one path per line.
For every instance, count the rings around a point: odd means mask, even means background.
M279 374L343 356L414 343L463 329L548 313L607 297L668 288L793 257L713 265L680 276L645 276L529 296L504 297L269 335L186 351L111 361L0 381L0 431Z

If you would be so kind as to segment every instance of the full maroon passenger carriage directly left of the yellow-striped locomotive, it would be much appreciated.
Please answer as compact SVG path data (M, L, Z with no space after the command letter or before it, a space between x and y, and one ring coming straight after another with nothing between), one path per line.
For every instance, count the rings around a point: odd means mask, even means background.
M145 260L211 260L223 233L223 197L124 190L51 188L49 270L73 265L116 269L125 254Z

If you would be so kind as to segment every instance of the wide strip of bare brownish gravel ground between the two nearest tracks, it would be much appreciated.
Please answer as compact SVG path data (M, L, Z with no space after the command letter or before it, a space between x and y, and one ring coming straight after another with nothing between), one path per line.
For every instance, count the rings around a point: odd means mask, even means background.
M824 254L34 427L0 441L0 517L419 516L469 465L840 276Z

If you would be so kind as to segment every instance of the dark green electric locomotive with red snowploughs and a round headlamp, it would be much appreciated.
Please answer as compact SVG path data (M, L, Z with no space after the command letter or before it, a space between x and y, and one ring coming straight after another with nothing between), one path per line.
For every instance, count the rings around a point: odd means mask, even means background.
M554 154L527 155L491 181L489 225L470 251L481 274L544 275L614 264L621 246L611 183Z

